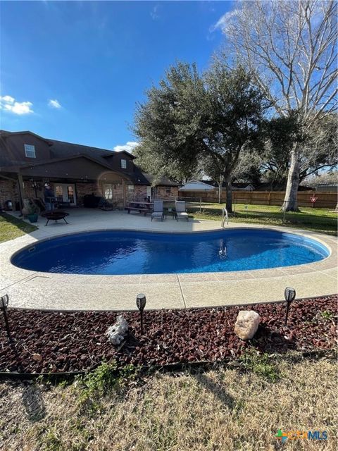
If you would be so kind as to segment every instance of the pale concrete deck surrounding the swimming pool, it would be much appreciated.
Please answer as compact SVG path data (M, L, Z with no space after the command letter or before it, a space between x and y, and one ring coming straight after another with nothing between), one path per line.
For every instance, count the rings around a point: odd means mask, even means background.
M18 214L13 214L18 217ZM139 214L92 209L70 210L65 224L39 218L38 230L0 243L0 296L9 296L9 306L52 310L131 310L144 292L146 309L183 309L252 304L284 299L284 288L296 289L296 297L337 293L337 238L306 230L230 223L227 228L282 230L319 240L330 249L322 261L299 266L224 273L155 274L141 276L84 276L27 271L11 264L11 256L37 240L92 230L149 230L198 232L220 230L220 221L153 221ZM223 229L224 230L224 229Z

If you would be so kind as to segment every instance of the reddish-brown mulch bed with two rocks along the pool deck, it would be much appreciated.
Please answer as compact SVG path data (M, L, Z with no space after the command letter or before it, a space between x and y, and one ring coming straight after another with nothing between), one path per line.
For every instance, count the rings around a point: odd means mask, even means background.
M250 342L234 334L234 322L243 309L261 315L261 324ZM84 371L111 359L119 366L218 362L236 359L249 346L280 353L327 350L337 343L337 295L294 301L288 327L284 326L285 304L277 303L144 311L143 336L139 313L125 312L129 333L122 347L111 345L105 335L117 315L8 309L13 336L10 345L0 312L0 371Z

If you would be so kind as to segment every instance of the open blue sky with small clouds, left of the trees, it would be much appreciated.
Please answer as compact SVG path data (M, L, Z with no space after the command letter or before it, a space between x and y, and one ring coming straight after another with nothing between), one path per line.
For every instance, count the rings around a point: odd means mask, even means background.
M1 128L113 149L177 60L204 70L231 1L1 1ZM119 149L119 147L117 148Z

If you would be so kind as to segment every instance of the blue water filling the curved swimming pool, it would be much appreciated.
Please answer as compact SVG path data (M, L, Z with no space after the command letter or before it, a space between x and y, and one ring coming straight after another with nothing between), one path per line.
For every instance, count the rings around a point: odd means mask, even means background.
M318 241L273 230L186 234L108 230L38 242L15 254L12 263L51 273L201 273L292 266L328 255Z

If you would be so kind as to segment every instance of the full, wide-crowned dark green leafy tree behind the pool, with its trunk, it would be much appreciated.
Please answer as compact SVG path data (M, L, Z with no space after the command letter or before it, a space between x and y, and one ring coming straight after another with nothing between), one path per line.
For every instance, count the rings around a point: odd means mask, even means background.
M225 180L231 212L232 173L241 152L259 140L267 107L250 75L241 66L229 70L218 60L203 76L196 66L178 63L146 94L146 103L137 106L134 133L149 161L154 156L163 168L184 171L207 163L209 173Z

